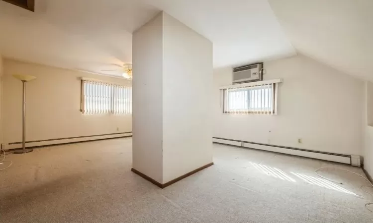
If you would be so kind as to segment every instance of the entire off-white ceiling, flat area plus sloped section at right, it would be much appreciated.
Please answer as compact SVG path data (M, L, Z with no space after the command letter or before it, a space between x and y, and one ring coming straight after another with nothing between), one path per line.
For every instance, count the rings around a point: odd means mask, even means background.
M373 81L373 0L0 0L0 53L120 76L111 63L132 61L132 32L161 10L212 41L214 67L298 52Z

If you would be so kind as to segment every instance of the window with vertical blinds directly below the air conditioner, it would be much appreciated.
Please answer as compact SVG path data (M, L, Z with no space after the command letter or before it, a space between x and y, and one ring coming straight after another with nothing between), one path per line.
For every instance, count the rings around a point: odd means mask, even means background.
M259 81L220 88L223 94L223 112L275 114L277 112L276 85L280 83L276 81Z

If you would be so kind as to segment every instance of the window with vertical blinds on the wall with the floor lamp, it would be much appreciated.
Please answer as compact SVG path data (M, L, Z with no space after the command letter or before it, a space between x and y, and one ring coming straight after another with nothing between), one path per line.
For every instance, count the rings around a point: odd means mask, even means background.
M132 113L132 87L82 80L82 104L84 114Z

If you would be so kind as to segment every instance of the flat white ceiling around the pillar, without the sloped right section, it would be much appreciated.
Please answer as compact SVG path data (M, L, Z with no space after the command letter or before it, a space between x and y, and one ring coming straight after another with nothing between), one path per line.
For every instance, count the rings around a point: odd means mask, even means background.
M161 10L213 42L214 67L295 55L267 0L35 0L35 12L0 1L4 57L120 75L131 33Z

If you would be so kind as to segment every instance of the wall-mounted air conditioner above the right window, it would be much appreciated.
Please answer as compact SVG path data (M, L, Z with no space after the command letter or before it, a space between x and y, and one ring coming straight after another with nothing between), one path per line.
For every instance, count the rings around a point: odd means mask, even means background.
M233 68L232 83L246 83L263 80L263 63Z

